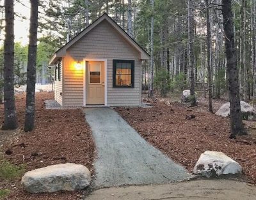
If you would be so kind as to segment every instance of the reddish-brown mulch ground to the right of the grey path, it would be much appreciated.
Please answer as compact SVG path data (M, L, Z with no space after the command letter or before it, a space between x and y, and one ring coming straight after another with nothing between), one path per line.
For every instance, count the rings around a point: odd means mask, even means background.
M248 136L229 139L229 119L209 113L203 97L194 108L179 103L179 97L144 97L143 101L152 108L115 110L153 146L191 173L206 150L223 152L243 166L247 182L256 184L256 122L244 121ZM214 111L225 102L226 99L214 99Z

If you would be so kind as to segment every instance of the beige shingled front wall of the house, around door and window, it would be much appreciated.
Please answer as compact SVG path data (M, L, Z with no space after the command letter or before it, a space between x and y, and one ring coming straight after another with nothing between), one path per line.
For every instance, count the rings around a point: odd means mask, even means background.
M107 59L108 106L141 105L140 54L115 29L103 20L86 36L70 46L64 59L64 106L83 106L83 69L75 62L83 59ZM134 88L113 88L113 59L134 60Z

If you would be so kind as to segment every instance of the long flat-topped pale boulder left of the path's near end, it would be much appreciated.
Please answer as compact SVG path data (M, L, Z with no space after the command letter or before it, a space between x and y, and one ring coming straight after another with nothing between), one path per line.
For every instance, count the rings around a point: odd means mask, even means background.
M31 193L74 191L90 185L91 173L81 164L56 164L28 171L21 183Z

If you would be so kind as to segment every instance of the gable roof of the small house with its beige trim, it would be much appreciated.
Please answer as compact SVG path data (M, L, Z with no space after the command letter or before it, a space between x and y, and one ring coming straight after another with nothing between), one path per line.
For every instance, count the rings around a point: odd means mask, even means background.
M58 61L58 59L60 59L60 57L65 56L67 54L67 49L70 46L74 45L74 43L79 41L79 39L81 39L83 36L85 36L88 32L90 32L95 26L100 24L100 22L102 22L103 20L107 20L109 22L109 24L111 24L112 27L128 43L130 43L130 45L132 45L136 50L138 50L138 52L140 52L141 60L148 60L150 58L150 55L134 39L132 39L131 36L129 36L129 34L127 34L127 32L125 32L124 29L122 29L122 27L120 27L120 25L116 24L116 22L111 17L109 17L107 13L104 13L99 18L97 18L97 20L95 20L92 24L88 25L88 27L86 27L83 31L81 31L76 37L74 37L73 39L68 41L68 43L66 45L62 46L59 50L57 50L55 52L55 54L53 55L49 64L50 65L54 64L56 61Z

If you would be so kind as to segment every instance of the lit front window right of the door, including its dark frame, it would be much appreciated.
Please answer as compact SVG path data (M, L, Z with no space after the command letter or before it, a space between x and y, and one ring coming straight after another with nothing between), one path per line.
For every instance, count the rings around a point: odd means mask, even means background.
M134 87L134 61L113 60L113 87Z

